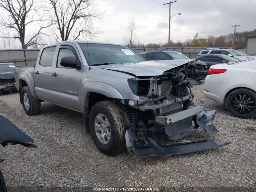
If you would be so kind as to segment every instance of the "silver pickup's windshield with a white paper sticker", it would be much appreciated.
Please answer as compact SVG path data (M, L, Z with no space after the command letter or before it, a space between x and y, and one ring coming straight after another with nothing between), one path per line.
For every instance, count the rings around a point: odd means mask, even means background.
M145 61L134 50L121 45L110 44L80 44L90 65L125 64ZM88 51L89 50L89 51Z

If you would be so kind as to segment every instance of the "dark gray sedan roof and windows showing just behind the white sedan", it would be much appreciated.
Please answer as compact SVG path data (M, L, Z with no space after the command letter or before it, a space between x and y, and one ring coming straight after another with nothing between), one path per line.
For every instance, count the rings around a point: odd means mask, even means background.
M212 65L221 64L221 63L228 63L228 62L239 62L240 60L230 57L224 54L204 54L194 57L193 59L200 60L205 62L208 69Z

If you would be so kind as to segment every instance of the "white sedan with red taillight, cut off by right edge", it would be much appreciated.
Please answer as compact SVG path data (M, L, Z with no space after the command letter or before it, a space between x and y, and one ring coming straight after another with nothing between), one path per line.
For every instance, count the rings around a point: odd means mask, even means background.
M239 118L256 117L256 58L210 67L204 96L226 105Z

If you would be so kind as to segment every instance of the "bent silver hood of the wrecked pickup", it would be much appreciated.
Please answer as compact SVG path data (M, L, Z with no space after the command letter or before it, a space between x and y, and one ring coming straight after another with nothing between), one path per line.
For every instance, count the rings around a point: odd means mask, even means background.
M194 59L163 60L157 62L145 61L132 64L112 64L91 67L134 74L135 76L158 76L162 75L167 70L182 66L191 61L194 61Z

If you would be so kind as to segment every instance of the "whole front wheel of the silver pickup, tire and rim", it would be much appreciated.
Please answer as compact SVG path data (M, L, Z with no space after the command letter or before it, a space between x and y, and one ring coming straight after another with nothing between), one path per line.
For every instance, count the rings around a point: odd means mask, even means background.
M90 133L100 151L114 155L125 149L126 124L113 101L96 103L90 111Z

